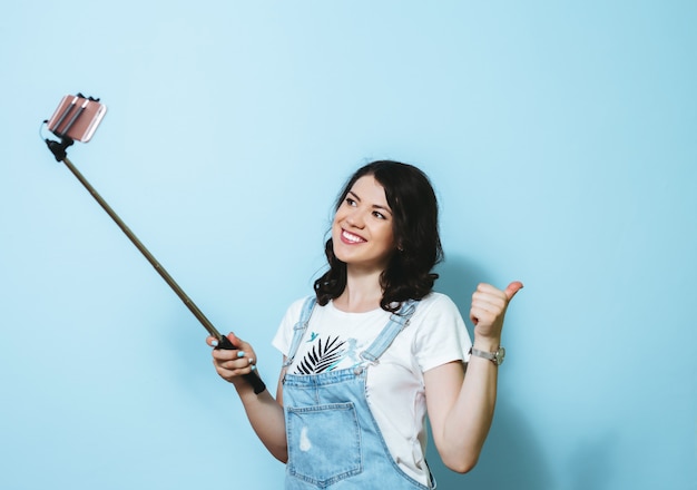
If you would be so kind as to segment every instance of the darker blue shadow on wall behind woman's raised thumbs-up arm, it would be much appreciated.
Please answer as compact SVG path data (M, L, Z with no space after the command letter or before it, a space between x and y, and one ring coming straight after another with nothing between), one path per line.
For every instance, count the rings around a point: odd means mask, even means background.
M441 277L436 282L436 290L448 294L455 302L468 326L471 327L468 317L472 293L477 284L490 280L477 266L450 255L438 272ZM503 396L499 398L489 438L479 463L472 471L459 474L449 470L442 463L431 435L428 458L440 490L552 488L551 474L542 460L542 451L534 434L520 411Z

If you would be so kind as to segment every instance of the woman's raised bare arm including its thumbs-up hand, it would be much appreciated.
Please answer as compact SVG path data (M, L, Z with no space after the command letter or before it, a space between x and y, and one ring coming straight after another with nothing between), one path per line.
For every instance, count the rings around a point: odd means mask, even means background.
M493 352L501 345L505 308L521 287L519 282L505 291L478 286L470 310L474 349ZM493 420L498 370L493 362L471 356L467 372L461 363L451 362L424 373L433 440L443 463L453 471L470 471L479 460Z

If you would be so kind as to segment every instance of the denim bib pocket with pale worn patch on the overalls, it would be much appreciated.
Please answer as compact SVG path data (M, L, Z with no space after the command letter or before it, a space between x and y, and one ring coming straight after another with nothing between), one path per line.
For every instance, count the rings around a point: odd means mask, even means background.
M288 473L317 488L363 471L361 429L353 403L286 406Z

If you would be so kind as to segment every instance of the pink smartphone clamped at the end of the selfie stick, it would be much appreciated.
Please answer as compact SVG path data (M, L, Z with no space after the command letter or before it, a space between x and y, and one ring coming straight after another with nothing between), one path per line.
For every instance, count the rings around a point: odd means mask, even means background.
M48 120L48 129L60 138L87 143L106 112L107 106L98 100L81 95L65 96Z

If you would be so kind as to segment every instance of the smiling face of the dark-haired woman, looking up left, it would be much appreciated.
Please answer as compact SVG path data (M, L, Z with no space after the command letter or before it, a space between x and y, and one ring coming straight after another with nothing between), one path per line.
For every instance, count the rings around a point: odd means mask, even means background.
M334 255L348 267L384 271L396 248L385 189L372 175L351 187L332 225Z

